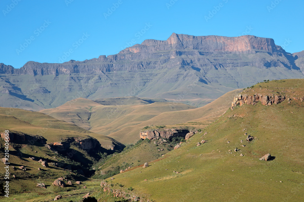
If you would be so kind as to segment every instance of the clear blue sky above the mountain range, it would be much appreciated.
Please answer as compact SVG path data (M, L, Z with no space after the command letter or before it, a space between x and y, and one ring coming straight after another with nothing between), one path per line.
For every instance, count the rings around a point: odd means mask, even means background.
M273 38L294 53L304 50L303 7L300 0L2 0L0 63L82 61L173 32Z

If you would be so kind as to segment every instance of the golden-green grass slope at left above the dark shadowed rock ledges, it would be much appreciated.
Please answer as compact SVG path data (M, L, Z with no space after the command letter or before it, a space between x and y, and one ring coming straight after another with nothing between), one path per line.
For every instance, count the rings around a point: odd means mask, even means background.
M16 108L0 108L0 127L5 130L20 131L25 134L36 134L47 139L47 143L64 140L68 137L94 136L75 124L59 121L49 115ZM98 134L98 141L103 147L109 147L115 141L110 137Z

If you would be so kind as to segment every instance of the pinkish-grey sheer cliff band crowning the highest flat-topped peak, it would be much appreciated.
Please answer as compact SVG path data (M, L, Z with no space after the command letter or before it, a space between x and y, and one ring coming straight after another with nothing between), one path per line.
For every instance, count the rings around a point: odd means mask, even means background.
M252 51L266 51L270 54L282 51L282 48L275 45L271 38L261 38L251 35L240 37L225 36L191 36L173 33L167 41L145 40L141 45L135 45L120 53L154 52L171 49L191 49L201 51L227 51L250 53Z

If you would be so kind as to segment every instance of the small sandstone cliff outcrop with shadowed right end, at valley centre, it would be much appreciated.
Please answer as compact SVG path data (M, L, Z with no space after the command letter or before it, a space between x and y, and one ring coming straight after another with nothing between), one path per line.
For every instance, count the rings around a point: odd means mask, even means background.
M163 129L140 131L140 138L149 140L158 140L159 138L171 139L173 137L186 137L189 131L186 129Z

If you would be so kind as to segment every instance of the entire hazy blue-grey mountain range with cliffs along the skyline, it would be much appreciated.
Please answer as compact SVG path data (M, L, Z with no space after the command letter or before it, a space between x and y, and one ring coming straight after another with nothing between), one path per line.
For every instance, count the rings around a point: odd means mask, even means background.
M0 106L40 110L75 98L128 96L202 106L208 102L197 100L265 79L304 78L297 58L270 38L173 33L85 61L29 61L20 69L1 63Z

